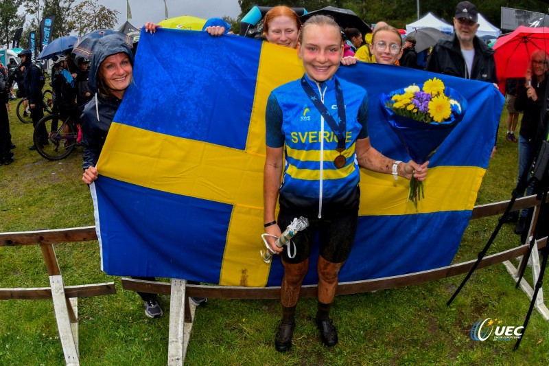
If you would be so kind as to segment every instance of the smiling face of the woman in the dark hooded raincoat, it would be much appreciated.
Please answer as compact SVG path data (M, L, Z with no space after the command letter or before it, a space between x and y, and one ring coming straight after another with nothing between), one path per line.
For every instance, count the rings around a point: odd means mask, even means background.
M132 63L124 52L110 55L101 63L100 76L110 93L121 99L132 81Z

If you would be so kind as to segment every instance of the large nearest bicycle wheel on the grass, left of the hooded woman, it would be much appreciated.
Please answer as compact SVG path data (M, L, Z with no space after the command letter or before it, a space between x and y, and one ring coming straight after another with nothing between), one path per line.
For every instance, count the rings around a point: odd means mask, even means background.
M47 140L38 134L44 126L47 131ZM63 122L59 115L47 115L34 128L33 141L38 154L48 160L65 159L76 146L78 132L68 118Z

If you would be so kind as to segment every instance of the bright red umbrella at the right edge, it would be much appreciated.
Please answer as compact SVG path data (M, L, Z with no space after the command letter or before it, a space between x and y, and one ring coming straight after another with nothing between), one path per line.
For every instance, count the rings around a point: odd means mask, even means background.
M531 28L521 25L515 31L498 38L495 50L495 70L498 80L524 78L530 67L530 56L535 49L549 52L549 28Z

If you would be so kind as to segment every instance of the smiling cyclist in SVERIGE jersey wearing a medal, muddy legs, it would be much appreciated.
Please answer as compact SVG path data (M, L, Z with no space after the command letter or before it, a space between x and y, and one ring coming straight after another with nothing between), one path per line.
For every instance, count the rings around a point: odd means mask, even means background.
M298 55L305 75L274 89L266 108L264 227L270 235L270 248L281 254L284 266L282 321L274 339L279 352L292 345L296 304L317 232L320 256L316 325L325 345L338 342L329 312L338 272L355 237L359 166L393 173L395 179L410 179L414 174L423 181L428 165L395 161L371 146L366 91L335 76L343 51L340 27L334 19L320 15L307 20L301 30ZM274 214L277 198L278 221ZM309 227L292 239L296 254L290 258L288 251L276 246L275 238L299 216L309 220Z

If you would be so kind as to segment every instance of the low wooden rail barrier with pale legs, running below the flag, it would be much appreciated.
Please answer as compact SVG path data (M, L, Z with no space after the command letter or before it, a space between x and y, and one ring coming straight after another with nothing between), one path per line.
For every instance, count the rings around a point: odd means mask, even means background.
M502 214L509 201L476 206L471 218L484 218ZM539 207L539 201L535 196L519 198L515 201L513 209ZM537 218L537 215L534 216ZM535 222L535 220L533 221ZM530 225L530 232L532 230ZM72 229L25 231L20 233L0 233L0 247L16 245L40 244L43 257L46 262L51 287L49 288L2 288L0 299L47 299L54 300L54 310L58 322L58 330L65 354L67 365L79 365L78 361L78 312L76 298L96 295L110 295L116 292L112 282L108 284L91 284L81 286L64 286L53 244L65 242L84 242L97 240L95 227L80 227ZM544 248L547 238L537 240L537 249ZM518 271L509 260L519 258L528 252L528 244L496 253L485 257L478 268L504 263L508 271L517 280ZM537 251L533 251L533 275L534 281L539 273L539 258ZM338 284L336 295L348 295L364 293L374 290L385 290L400 286L422 284L467 273L476 260L452 264L442 268L434 268L429 271L408 273L393 277L367 279L356 282L342 282ZM519 263L518 268L526 266ZM144 293L158 293L170 295L170 334L168 339L168 365L183 365L187 345L189 343L192 323L194 321L195 307L189 304L189 297L209 297L213 299L277 299L280 287L251 288L239 286L203 286L188 285L185 279L172 279L171 283L150 282L140 279L122 278L122 286L125 290L140 291ZM524 279L521 287L532 298L533 290ZM316 285L303 286L302 297L316 297ZM70 301L69 301L70 299ZM543 292L539 291L536 300L536 308L549 320L549 312L543 301Z

